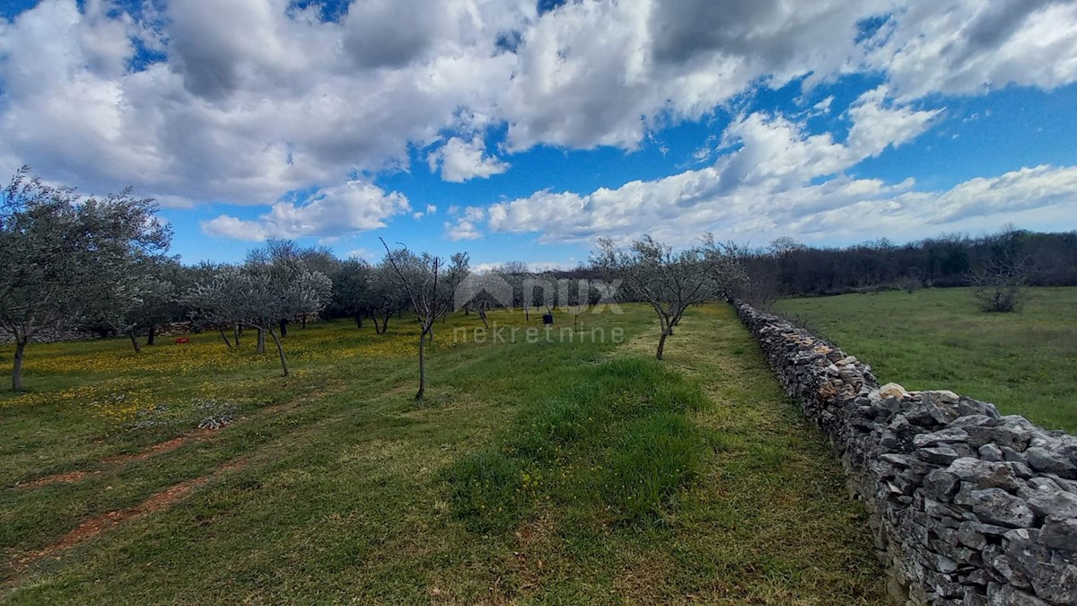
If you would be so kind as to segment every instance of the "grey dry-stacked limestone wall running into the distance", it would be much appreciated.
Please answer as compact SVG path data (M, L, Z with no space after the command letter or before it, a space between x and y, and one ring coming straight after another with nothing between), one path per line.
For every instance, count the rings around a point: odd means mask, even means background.
M737 303L870 512L895 602L1077 605L1077 438L871 369Z

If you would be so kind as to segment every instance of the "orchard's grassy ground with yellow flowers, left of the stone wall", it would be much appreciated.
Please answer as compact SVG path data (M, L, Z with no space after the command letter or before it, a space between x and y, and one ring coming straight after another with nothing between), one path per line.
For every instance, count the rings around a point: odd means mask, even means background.
M884 603L839 465L731 308L665 363L643 307L585 316L606 343L453 344L476 322L440 329L422 403L408 321L295 328L289 378L253 336L29 347L31 391L0 395L0 600Z

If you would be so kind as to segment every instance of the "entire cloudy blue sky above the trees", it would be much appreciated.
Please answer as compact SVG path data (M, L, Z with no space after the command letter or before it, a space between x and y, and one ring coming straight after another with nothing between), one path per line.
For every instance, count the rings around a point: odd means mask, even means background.
M8 1L0 169L266 237L574 265L599 237L1077 229L1077 4Z

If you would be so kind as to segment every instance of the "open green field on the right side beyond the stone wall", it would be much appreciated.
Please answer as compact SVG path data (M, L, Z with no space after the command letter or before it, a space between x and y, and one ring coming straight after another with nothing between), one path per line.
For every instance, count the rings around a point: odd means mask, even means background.
M1013 314L980 312L968 289L780 301L907 389L952 389L1050 429L1077 432L1077 288L1033 288Z

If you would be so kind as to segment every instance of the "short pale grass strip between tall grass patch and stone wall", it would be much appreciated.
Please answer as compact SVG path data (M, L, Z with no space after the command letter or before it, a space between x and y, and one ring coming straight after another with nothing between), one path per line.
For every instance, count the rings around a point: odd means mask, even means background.
M649 353L652 332L633 348ZM693 419L717 438L681 505L676 577L713 578L694 593L704 603L884 604L867 520L840 465L732 308L690 313L666 358L714 402Z

